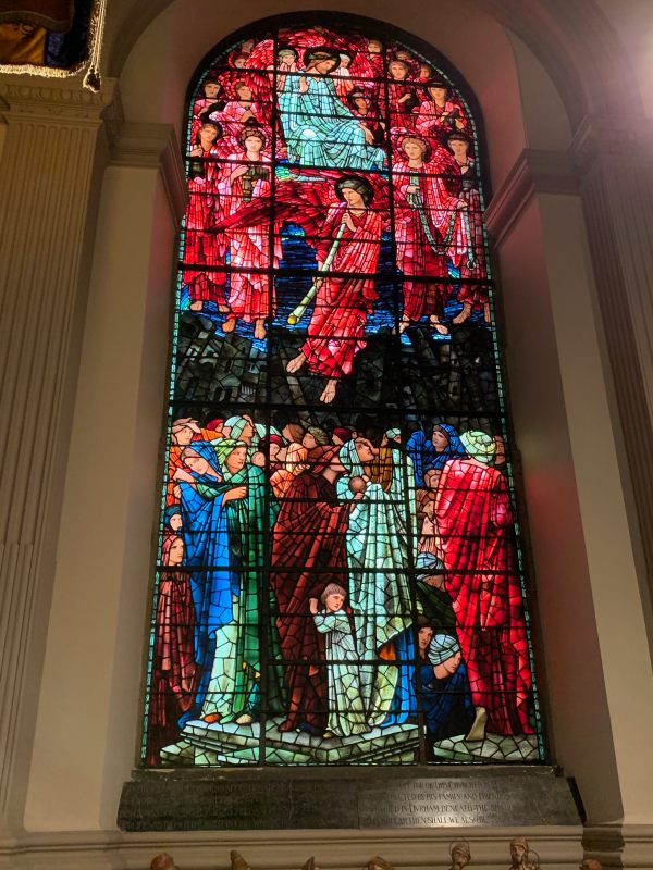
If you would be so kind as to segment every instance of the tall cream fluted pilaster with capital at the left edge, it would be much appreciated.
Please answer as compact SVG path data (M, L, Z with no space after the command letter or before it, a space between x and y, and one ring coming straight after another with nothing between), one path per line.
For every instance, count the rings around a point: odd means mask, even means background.
M28 749L112 83L0 79L0 816ZM74 618L75 614L71 614ZM38 635L38 636L37 636ZM22 767L26 767L25 763ZM13 783L16 786L16 783ZM20 787L19 787L20 791Z

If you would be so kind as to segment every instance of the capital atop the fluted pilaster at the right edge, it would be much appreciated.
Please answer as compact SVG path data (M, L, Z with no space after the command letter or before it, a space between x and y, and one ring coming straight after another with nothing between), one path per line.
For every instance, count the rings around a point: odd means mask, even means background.
M586 115L569 146L569 157L582 174L597 160L650 165L653 163L653 119Z

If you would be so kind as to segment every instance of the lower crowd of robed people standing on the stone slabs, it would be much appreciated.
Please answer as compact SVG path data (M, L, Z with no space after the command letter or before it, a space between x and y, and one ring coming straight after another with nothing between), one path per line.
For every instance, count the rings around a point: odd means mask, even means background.
M533 732L503 443L436 423L172 425L148 760L185 722Z

